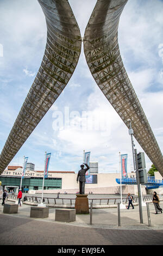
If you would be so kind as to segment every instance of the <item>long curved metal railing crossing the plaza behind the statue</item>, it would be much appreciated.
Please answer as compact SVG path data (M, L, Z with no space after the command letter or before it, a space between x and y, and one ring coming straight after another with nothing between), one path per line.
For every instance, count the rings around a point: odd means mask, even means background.
M32 202L32 203L40 203L41 202L41 197L37 196L25 196L27 198L27 202ZM16 195L9 194L9 198L11 199L17 199ZM152 200L153 195L145 195L143 196L143 201L149 201ZM92 205L109 205L109 204L117 204L121 202L121 198L88 198L89 199L89 204ZM51 197L43 197L43 203L48 204L48 205L74 205L75 204L76 198L51 198ZM128 199L122 198L123 203L127 203ZM139 202L139 197L134 196L134 202L138 203Z

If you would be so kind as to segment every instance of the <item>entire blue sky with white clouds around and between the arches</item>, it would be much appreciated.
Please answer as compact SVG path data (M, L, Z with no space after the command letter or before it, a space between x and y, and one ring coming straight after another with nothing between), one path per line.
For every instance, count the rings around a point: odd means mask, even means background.
M96 0L69 0L81 35ZM80 8L79 8L80 7ZM124 66L162 151L163 1L129 0L118 29ZM39 70L46 45L46 22L36 0L0 2L0 151ZM92 104L92 102L95 102ZM134 139L137 151L143 151ZM43 170L45 151L52 153L49 170L77 172L83 150L91 151L100 173L120 172L119 152L128 154L133 170L128 129L106 100L87 67L83 47L64 92L54 102L10 165L23 156ZM151 161L146 158L147 170Z

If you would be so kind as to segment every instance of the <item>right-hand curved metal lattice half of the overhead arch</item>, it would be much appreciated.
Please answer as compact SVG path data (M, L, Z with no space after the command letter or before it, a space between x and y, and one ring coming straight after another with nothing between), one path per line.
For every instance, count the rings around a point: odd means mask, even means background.
M118 23L128 0L99 0L84 34L84 53L96 83L163 176L163 157L124 69L118 46Z

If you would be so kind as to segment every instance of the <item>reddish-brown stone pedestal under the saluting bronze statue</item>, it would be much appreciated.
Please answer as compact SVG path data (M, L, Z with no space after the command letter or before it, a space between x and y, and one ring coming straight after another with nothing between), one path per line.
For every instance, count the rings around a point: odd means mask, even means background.
M77 194L75 203L76 214L89 214L87 194Z

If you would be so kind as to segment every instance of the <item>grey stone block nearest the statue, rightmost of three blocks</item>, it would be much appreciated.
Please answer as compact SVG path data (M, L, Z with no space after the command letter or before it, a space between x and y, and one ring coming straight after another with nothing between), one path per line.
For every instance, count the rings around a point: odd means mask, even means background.
M72 222L76 221L75 209L56 209L55 221Z

